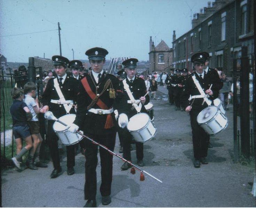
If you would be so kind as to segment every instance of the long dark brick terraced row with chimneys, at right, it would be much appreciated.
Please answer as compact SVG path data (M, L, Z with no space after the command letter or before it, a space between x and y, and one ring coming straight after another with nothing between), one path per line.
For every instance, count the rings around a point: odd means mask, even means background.
M173 31L173 67L192 70L191 56L207 51L210 67L220 67L231 76L233 58L241 57L241 47L248 46L254 57L254 1L216 0L193 15L192 29L176 39Z

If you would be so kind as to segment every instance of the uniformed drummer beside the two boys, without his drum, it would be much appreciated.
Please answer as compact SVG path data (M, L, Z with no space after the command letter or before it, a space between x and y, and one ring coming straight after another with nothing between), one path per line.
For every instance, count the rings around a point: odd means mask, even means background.
M53 64L55 66L55 73L57 77L50 79L47 83L44 94L42 95L42 104L44 107L41 113L50 110L56 118L69 113L76 113L72 104L75 104L78 88L78 81L69 77L66 73L69 60L63 56L53 56ZM64 99L62 98L64 96ZM61 99L62 98L62 99ZM64 104L70 103L70 105ZM48 121L47 139L51 151L54 170L52 171L51 178L56 178L62 173L60 166L60 156L58 149L58 137L53 129L54 121ZM67 146L67 175L75 173L75 147L74 145Z

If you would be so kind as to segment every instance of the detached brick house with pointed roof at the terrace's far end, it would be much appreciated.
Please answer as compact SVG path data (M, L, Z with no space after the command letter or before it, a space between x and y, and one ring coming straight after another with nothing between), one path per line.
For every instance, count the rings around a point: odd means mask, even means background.
M155 47L152 36L149 40L149 73L164 72L172 66L172 48L161 40Z

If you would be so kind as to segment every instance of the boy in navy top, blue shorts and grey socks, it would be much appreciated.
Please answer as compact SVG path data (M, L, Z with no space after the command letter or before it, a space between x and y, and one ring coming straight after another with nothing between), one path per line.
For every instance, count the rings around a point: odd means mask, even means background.
M10 107L11 117L13 118L13 135L16 142L16 153L17 155L13 158L14 165L21 170L19 160L26 152L28 152L33 146L32 137L30 135L30 129L28 126L27 119L32 118L32 114L23 102L23 90L14 87L11 90L11 95L14 99L13 104ZM22 139L26 142L26 146L22 148ZM32 166L33 167L33 164Z

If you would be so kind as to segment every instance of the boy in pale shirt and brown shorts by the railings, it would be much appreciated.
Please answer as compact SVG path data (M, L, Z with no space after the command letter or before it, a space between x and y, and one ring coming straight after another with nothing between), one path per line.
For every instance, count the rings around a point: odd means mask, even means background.
M36 100L34 99L36 97L36 89L37 87L34 82L27 82L24 85L24 102L32 113L32 119L28 121L28 125L30 127L31 136L33 139L33 147L29 151L29 159L26 164L28 165L28 163L32 163L33 165L31 165L31 167L33 170L37 170L37 167L48 167L39 159L42 137L40 135L39 121L37 117L37 114L40 113L39 101L38 98Z

